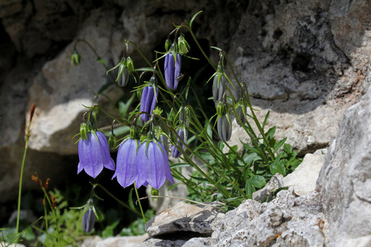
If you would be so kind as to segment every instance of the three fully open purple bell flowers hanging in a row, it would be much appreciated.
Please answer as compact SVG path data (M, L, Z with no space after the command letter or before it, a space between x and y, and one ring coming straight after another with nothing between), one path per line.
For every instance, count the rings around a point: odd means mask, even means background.
M86 126L82 125L81 137L87 132L87 139L81 138L78 145L80 159L78 173L84 169L89 176L95 178L102 172L103 167L115 169L115 163L109 154L109 144L104 134L100 131L86 130ZM153 138L142 143L134 138L125 139L117 152L113 178L117 178L122 187L135 183L138 188L142 185L151 185L159 189L164 185L166 178L174 183L164 146L165 144Z

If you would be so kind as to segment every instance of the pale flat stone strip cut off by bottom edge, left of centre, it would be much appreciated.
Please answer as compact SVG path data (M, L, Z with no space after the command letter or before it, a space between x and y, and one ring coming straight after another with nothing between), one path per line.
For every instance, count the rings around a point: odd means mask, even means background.
M148 237L148 234L139 235L139 236L127 236L127 237L107 237L102 239L101 237L88 237L85 239L81 247L137 247L139 244Z

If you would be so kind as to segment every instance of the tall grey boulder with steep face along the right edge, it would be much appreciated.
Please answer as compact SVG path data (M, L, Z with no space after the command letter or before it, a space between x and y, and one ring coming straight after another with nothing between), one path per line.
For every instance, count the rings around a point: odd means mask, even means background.
M370 239L370 106L371 90L346 110L319 174L317 189L328 220L324 228L328 246L362 245Z

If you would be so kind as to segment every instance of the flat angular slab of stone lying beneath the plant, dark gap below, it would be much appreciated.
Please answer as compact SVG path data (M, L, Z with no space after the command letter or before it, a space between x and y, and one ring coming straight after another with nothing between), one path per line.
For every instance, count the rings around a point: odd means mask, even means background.
M187 232L208 234L212 233L210 224L218 217L223 217L221 211L215 210L210 204L199 207L185 202L178 202L174 207L155 215L146 224L150 236Z

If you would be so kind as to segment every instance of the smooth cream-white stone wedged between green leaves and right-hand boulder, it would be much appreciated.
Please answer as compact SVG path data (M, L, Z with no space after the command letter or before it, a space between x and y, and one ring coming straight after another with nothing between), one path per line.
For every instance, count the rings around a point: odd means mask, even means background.
M315 190L324 158L324 154L306 154L295 171L282 179L282 187L293 187L299 196L304 196Z

